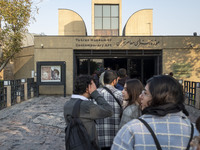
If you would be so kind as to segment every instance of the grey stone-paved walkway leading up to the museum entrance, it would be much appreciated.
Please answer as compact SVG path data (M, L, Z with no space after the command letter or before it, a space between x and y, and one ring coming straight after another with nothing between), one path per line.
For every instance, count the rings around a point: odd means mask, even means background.
M0 150L64 150L63 105L69 97L40 96L0 111ZM194 122L200 110L187 107Z

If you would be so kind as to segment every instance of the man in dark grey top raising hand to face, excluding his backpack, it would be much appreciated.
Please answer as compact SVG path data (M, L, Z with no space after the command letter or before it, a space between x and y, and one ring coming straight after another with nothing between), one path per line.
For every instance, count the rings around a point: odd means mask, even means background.
M96 104L90 98L94 99ZM77 100L82 100L80 104L80 119L83 122L91 141L96 141L97 132L95 120L112 116L112 107L106 100L97 92L96 85L89 75L81 75L76 79L75 90L64 105L64 117L68 124L68 117L72 115L74 104Z

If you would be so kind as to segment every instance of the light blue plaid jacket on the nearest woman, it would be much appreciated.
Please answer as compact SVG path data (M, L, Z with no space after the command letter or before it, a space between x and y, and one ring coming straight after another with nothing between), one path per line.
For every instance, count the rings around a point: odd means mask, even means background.
M185 150L191 134L189 119L182 113L164 117L143 115L152 128L163 150ZM199 135L194 126L194 136ZM117 133L112 150L155 150L156 145L149 130L138 119L124 125Z

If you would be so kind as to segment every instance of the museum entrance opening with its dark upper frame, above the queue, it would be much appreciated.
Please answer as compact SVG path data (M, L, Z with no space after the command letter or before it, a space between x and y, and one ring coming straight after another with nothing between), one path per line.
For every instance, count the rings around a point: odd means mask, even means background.
M130 78L137 78L145 84L147 79L162 72L161 51L148 51L146 55L144 52L142 55L130 54L129 51L129 55L127 56L119 56L119 54L112 53L110 57L108 55L99 55L97 57L93 53L93 56L82 54L80 57L80 54L77 54L75 57L75 75L92 75L96 70L100 70L101 68L105 70L110 68L115 71L118 71L120 68L125 68Z

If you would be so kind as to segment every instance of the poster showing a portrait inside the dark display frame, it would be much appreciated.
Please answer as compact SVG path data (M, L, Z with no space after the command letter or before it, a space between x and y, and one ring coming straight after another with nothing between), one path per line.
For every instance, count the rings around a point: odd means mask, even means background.
M41 66L41 82L61 82L61 66Z

